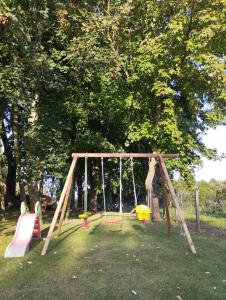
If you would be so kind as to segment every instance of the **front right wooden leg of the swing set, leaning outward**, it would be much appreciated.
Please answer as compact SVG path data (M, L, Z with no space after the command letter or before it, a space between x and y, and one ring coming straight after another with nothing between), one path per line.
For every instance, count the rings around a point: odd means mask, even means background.
M178 212L178 216L179 216L180 221L181 221L181 224L182 224L182 226L183 226L183 230L184 230L184 233L185 233L187 242L188 242L188 244L189 244L189 246L190 246L190 249L191 249L192 253L195 254L195 253L196 253L195 246L194 246L194 244L193 244L193 242L192 242L191 235L190 235L190 233L189 233L187 224L186 224L186 222L185 222L185 220L184 220L184 217L183 217L183 214L182 214L180 205L179 205L179 203L178 203L177 195L176 195L176 193L175 193L175 191L174 191L172 182L171 182L171 180L170 180L168 171L167 171L167 169L166 169L165 162L164 162L164 160L163 160L163 158L162 158L161 155L159 155L159 161L160 161L160 167L162 168L162 172L163 172L164 177L165 177L165 179L166 179L166 182L167 182L167 185L168 185L168 187L169 187L170 193L171 193L171 195L172 195L172 197L173 197L173 200L174 200L174 203L175 203L177 212Z

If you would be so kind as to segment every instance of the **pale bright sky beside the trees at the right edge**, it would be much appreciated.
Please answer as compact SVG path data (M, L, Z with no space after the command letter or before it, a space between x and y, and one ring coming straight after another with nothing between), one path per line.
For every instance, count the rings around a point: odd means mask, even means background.
M207 147L216 148L218 154L225 153L226 156L226 126L219 126L216 129L209 129L203 137ZM195 173L196 180L209 181L211 178L217 180L226 179L226 158L222 161L211 161L203 158L203 167Z

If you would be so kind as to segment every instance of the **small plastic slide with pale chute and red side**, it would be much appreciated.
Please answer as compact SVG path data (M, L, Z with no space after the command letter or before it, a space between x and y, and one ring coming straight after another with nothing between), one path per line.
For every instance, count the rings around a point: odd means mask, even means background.
M40 218L37 214L40 203L36 205L36 213L23 213L17 222L16 231L11 243L5 250L5 257L21 257L29 251L32 239L41 239Z

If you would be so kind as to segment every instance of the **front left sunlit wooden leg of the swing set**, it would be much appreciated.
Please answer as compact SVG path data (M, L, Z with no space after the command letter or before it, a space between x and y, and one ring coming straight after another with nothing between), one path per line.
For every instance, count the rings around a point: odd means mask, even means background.
M48 232L48 235L46 237L46 240L45 240L45 243L44 243L41 255L45 255L46 252L47 252L47 249L48 249L48 246L49 246L49 243L50 243L50 239L52 237L52 234L53 234L56 222L57 222L57 218L59 216L59 213L60 213L60 210L61 210L64 198L65 198L65 195L66 195L66 191L68 189L68 185L69 185L70 180L71 180L71 178L73 176L73 172L74 172L74 168L76 166L76 162L77 162L77 156L74 156L72 164L71 164L71 167L70 167L70 170L69 170L68 175L67 175L67 179L66 179L65 184L64 184L63 191L61 193L61 196L60 196L60 199L59 199L59 202L58 202L58 205L57 205L57 209L55 211L52 223L50 225L49 232Z

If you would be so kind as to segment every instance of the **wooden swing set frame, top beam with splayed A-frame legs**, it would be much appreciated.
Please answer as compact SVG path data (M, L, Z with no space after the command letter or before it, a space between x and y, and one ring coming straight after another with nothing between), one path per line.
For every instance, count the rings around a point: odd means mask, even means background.
M162 181L162 187L163 187L163 197L165 199L167 199L167 193L166 190L168 190L172 196L172 200L174 202L174 205L176 207L176 210L178 212L178 218L179 218L179 222L181 222L181 225L183 227L184 230L184 234L185 234L185 238L187 240L187 243L191 249L192 253L196 253L196 249L195 246L193 244L190 232L188 230L187 224L185 222L182 210L180 208L179 205L179 201L177 198L177 195L175 193L173 184L171 182L169 173L167 171L166 165L165 165L165 158L176 158L178 157L178 154L162 154L162 153L73 153L72 154L72 163L70 166L70 169L68 171L68 175L60 196L60 199L58 201L58 205L55 211L55 214L53 216L50 228L49 228L49 232L47 235L47 238L45 240L41 255L45 255L48 247L49 247L49 243L54 231L54 228L56 226L59 214L61 214L60 216L60 223L59 226L61 227L61 224L63 222L64 216L65 216L65 211L66 211L66 206L67 203L69 201L69 192L73 186L73 176L74 176L74 171L75 171L75 167L77 164L78 159L80 158L85 158L87 160L87 158L155 158L156 162L159 165L160 168L160 174L161 174L161 181ZM151 180L149 180L150 182ZM148 186L149 190L150 190L150 186ZM168 206L168 201L164 200L164 205L167 207ZM84 203L85 206L85 203ZM169 216L167 215L167 220L170 222ZM170 223L169 223L170 224Z

